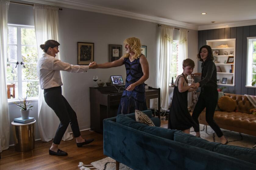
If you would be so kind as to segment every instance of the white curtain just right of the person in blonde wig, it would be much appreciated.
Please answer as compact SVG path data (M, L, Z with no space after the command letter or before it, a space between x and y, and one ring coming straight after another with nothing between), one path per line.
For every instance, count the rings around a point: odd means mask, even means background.
M174 27L161 26L159 87L161 88L161 107L165 110L169 107L169 72L172 60L173 30Z

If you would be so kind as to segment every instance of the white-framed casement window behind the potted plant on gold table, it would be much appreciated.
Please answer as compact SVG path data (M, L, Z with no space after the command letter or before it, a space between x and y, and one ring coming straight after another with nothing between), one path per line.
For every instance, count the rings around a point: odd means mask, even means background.
M8 25L6 84L12 98L28 99L38 96L37 42L34 27ZM14 94L15 93L15 94ZM15 97L14 97L15 95Z

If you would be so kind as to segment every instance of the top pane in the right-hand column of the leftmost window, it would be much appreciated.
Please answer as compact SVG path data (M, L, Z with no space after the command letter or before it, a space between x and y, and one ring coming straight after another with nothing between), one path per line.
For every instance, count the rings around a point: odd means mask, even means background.
M21 29L21 45L37 45L34 29Z

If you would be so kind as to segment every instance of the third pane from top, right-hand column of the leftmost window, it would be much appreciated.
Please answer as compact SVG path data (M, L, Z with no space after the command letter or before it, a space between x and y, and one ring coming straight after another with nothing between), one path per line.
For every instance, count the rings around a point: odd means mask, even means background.
M24 64L22 66L22 80L37 80L37 64Z

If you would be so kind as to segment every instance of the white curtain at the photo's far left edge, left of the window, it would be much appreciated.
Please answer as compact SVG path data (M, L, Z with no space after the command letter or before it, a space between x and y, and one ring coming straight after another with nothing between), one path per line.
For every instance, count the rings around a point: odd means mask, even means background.
M5 67L7 62L7 15L9 0L0 0L0 152L9 148L10 121L6 93Z

